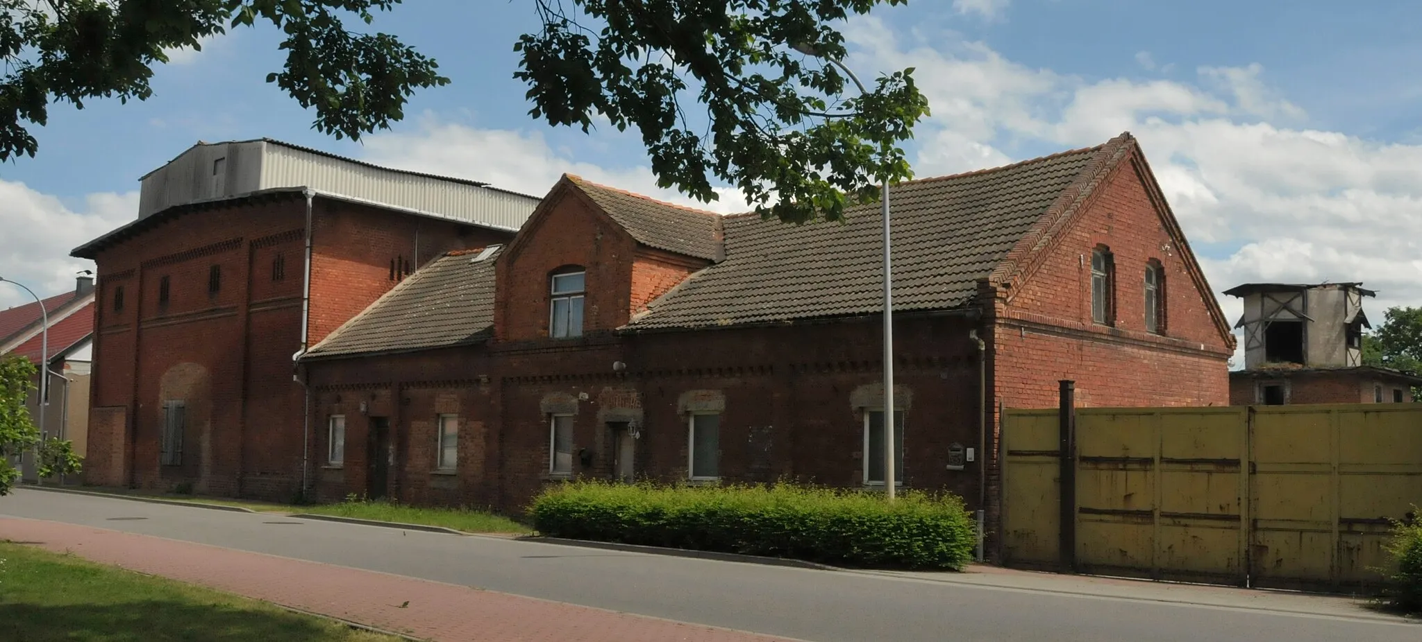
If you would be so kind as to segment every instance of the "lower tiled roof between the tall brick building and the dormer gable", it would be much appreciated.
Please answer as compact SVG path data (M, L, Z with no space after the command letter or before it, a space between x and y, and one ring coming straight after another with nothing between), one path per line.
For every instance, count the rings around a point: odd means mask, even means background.
M429 261L309 351L311 358L474 344L493 328L499 250L451 251ZM482 260L474 261L474 259Z

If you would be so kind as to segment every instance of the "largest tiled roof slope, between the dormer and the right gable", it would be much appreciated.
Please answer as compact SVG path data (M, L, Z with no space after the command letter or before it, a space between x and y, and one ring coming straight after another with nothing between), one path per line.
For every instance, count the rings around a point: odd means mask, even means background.
M1089 165L1103 146L890 186L894 310L970 303L977 281L1066 187L1095 173ZM627 327L702 328L882 312L879 207L853 207L843 224L729 216L725 260L691 276Z

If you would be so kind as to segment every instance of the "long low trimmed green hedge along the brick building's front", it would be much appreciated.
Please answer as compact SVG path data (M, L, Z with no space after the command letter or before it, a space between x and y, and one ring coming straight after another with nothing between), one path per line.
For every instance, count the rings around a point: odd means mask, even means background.
M835 565L963 570L974 526L954 496L775 486L577 482L529 506L549 537L784 557Z

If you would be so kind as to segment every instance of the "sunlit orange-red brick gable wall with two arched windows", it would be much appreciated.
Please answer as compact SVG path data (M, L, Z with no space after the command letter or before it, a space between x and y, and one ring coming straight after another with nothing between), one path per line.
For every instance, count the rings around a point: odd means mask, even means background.
M991 293L991 389L1000 408L1055 408L1061 379L1076 382L1078 406L1227 405L1229 331L1213 294L1160 213L1143 165L1125 159L1095 189L1020 291ZM1108 324L1092 320L1092 250L1113 264ZM1163 330L1146 332L1145 270L1163 274ZM994 410L993 442L1000 437ZM995 450L990 449L995 457ZM988 493L997 497L998 476ZM990 540L998 506L990 501ZM990 545L991 550L991 545Z

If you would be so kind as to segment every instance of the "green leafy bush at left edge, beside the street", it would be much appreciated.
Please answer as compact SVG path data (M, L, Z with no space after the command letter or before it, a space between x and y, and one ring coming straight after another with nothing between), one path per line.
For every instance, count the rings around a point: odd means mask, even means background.
M34 364L20 355L0 357L0 496L20 479L10 457L38 447L37 473L43 477L80 472L80 457L68 440L48 439L40 445L40 429L30 420L24 401L34 388Z

